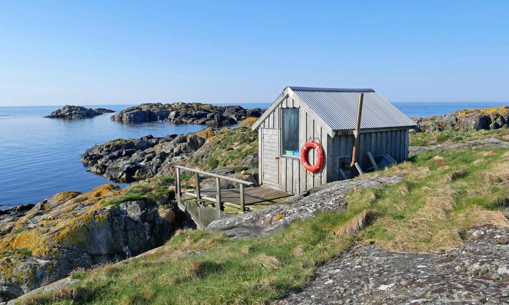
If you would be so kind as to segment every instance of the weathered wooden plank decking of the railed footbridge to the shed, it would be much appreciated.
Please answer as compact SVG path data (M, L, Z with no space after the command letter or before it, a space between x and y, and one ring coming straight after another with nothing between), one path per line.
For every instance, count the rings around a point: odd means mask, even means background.
M196 198L195 191L187 191L184 194ZM215 189L200 190L200 195L203 199L215 201L216 190ZM288 196L292 196L292 194L266 187L244 189L244 198L246 205L270 201ZM221 201L227 204L231 203L235 205L240 205L240 191L238 189L221 190Z

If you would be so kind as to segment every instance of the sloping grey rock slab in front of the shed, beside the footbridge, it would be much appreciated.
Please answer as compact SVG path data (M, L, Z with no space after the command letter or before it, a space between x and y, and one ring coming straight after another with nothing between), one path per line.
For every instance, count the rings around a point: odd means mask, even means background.
M237 217L218 219L207 226L232 238L267 236L294 221L312 218L319 212L344 210L346 193L356 187L373 187L400 181L396 176L378 176L330 182L292 196L281 203Z

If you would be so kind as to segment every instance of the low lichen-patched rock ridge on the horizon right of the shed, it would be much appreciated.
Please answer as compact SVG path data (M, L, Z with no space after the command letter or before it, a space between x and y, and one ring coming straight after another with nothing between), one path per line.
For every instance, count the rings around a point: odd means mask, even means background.
M419 117L414 121L421 131L509 128L509 107L457 110L440 116Z

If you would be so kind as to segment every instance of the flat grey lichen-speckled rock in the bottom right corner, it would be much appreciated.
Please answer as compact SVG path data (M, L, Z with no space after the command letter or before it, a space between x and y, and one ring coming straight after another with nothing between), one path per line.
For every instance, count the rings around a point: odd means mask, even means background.
M468 231L465 246L441 254L354 248L276 304L507 304L509 229Z

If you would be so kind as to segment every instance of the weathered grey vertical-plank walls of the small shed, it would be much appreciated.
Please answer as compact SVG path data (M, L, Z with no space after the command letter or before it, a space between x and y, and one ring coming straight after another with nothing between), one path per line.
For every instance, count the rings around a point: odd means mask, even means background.
M300 106L300 101L291 96L285 97L278 107L274 108L263 121L259 129L259 168L260 184L277 188L289 193L300 193L327 182L340 180L337 158L352 155L354 143L353 135L336 135L331 138L316 119L314 113L306 113ZM300 108L299 111L299 147L308 139L318 139L324 148L324 165L321 173L312 175L302 168L298 157L284 156L281 153L281 109ZM271 135L264 140L264 130ZM265 133L265 134L267 134ZM277 136L276 136L277 134ZM277 142L274 141L277 137ZM264 151L267 150L265 153ZM373 155L389 154L398 162L408 159L408 130L380 130L361 132L359 139L358 162L362 168L372 166L367 151ZM273 162L274 156L278 159ZM315 164L317 156L314 150L309 153L309 163ZM264 173L273 177L277 173L277 180L264 180ZM356 170L352 170L356 174ZM274 183L277 181L276 183Z

